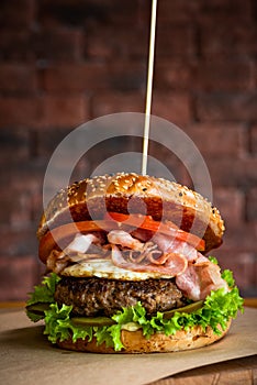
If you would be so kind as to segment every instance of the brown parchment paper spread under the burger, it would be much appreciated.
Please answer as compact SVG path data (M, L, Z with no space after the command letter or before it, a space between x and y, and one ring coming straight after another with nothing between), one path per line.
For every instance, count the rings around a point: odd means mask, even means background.
M212 363L257 354L257 309L246 308L213 345L179 353L90 354L54 348L24 310L0 312L0 383L142 385Z

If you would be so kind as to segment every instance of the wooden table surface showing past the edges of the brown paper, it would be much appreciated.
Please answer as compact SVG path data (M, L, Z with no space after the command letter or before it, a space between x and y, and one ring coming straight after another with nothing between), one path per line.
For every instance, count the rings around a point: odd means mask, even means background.
M24 302L0 302L2 311L21 308ZM245 306L257 308L257 298L245 299ZM257 322L256 322L257 324ZM231 360L186 371L148 385L249 385L257 384L257 355Z

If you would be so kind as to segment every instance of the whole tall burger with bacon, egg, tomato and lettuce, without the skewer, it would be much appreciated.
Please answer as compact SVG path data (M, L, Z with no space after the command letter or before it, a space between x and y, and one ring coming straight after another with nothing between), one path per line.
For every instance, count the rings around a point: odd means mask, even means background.
M59 348L174 352L223 338L243 311L232 272L210 251L224 223L175 182L118 173L74 183L48 202L38 230L46 275L26 314Z

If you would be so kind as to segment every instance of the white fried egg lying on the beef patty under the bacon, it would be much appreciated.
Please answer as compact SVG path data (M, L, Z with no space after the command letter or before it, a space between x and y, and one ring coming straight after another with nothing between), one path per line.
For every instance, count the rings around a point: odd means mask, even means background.
M81 261L75 265L66 267L62 275L72 277L99 277L121 280L144 280L148 278L170 278L160 273L137 273L130 270L114 266L111 260L89 260Z

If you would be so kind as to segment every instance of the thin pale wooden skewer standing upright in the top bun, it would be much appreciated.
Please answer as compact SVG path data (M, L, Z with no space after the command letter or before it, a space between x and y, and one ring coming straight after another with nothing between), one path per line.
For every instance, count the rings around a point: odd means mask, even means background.
M153 90L153 75L154 75L154 56L155 56L156 11L157 11L157 0L153 0L152 1L152 18L150 18L146 106L145 106L144 143L143 143L143 154L142 154L142 175L146 175L146 169L147 169L152 90Z

